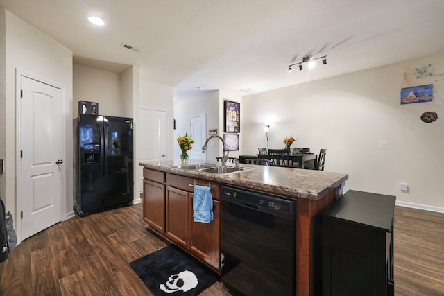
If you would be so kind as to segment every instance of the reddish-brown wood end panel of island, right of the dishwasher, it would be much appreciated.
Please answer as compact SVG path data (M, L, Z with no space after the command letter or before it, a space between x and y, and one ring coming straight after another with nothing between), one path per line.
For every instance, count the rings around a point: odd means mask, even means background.
M341 196L341 190L334 190L321 200L296 198L296 295L316 295L316 236L320 233L319 211ZM316 272L316 273L315 273Z

